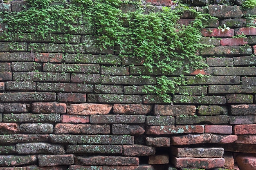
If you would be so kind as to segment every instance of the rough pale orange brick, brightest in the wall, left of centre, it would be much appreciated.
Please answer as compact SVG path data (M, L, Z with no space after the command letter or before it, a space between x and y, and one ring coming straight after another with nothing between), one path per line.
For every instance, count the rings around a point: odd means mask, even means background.
M81 103L67 106L67 114L77 115L108 114L110 110L112 110L112 105L108 104Z

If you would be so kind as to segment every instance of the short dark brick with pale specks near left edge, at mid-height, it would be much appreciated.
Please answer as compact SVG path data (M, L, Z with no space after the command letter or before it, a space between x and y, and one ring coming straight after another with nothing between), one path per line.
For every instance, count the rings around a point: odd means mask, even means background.
M5 82L5 89L10 91L36 91L36 82L32 81L7 81Z

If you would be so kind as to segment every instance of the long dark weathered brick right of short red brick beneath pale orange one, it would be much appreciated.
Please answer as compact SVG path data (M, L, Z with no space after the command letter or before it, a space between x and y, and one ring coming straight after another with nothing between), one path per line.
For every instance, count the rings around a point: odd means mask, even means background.
M90 116L90 123L97 124L122 124L122 123L144 123L146 116L144 115L93 115Z

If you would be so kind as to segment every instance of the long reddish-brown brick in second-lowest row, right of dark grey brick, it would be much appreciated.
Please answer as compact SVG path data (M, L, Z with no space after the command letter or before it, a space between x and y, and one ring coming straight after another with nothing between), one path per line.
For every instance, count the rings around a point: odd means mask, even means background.
M76 165L109 165L109 166L138 166L139 158L121 156L78 156L74 157Z

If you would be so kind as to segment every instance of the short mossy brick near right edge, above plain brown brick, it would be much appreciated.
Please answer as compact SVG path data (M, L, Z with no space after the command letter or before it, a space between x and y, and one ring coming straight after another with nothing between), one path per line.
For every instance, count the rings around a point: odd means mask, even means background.
M253 103L253 95L249 94L227 94L227 103Z

